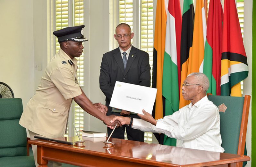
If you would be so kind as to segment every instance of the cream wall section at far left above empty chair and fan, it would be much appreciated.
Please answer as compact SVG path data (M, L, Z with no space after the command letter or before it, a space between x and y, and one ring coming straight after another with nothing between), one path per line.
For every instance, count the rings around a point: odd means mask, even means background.
M9 85L23 107L34 94L32 0L0 0L0 81Z

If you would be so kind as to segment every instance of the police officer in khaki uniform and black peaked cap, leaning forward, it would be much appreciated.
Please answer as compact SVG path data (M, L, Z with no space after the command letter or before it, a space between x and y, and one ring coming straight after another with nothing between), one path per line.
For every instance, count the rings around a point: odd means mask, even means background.
M35 135L48 138L63 137L72 99L86 112L102 120L106 125L115 125L106 116L107 107L101 103L93 104L84 94L77 82L77 60L83 52L83 27L66 27L53 32L58 37L60 50L47 65L34 96L24 109L20 125L27 128L30 138ZM121 124L120 124L121 125ZM37 164L36 146L32 146ZM59 163L54 163L59 166ZM49 165L51 165L49 163Z

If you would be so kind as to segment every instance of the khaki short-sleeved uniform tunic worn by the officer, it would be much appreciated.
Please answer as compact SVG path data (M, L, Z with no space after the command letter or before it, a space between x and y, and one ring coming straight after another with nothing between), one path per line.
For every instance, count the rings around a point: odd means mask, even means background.
M24 109L19 124L46 137L62 137L65 133L72 98L81 95L77 83L77 60L60 49L47 65L35 95Z

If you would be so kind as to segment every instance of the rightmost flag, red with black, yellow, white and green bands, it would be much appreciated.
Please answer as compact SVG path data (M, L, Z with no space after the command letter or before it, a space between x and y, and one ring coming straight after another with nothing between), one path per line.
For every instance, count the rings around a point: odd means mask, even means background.
M235 0L224 2L221 54L221 95L242 96L240 82L248 76L248 64Z

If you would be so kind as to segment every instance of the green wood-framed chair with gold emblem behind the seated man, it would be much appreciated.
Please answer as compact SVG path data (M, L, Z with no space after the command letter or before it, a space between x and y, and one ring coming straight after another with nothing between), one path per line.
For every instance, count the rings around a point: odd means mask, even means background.
M208 99L220 110L221 146L225 153L244 155L251 96L208 95ZM242 167L243 163L237 163L236 166Z

